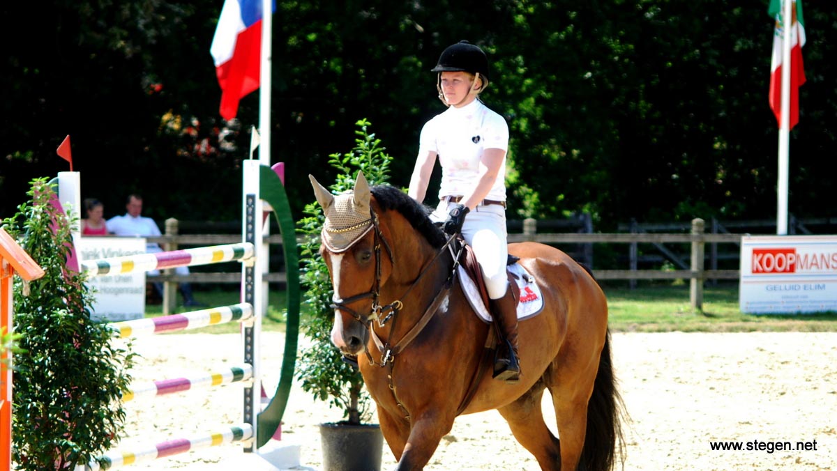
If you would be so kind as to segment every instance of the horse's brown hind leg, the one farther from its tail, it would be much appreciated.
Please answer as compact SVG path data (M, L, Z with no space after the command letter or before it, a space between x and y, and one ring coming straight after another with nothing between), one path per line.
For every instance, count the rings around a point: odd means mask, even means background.
M542 397L543 385L538 382L515 402L497 410L509 422L517 442L534 455L541 469L558 471L561 469L561 448L543 421Z

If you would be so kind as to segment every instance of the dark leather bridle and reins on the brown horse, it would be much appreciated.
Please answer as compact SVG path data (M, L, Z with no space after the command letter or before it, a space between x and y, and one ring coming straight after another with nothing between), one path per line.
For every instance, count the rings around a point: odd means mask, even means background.
M439 248L439 252L434 255L434 258L430 260L428 264L424 266L419 276L413 281L413 284L410 284L409 288L401 295L400 299L394 300L392 303L388 305L380 305L378 300L380 299L380 289L381 289L381 246L387 250L387 254L389 255L390 261L395 264L395 259L393 258L393 250L390 247L389 243L387 242L386 238L383 238L383 233L381 233L381 228L378 223L377 214L374 210L370 209L371 213L371 223L372 228L374 229L374 243L373 249L375 252L375 280L372 282L372 289L367 291L366 293L355 294L345 299L336 299L332 298L332 303L329 307L334 310L342 310L347 312L349 315L360 322L362 325L365 325L367 330L369 330L372 339L375 340L375 345L377 346L378 350L381 351L382 360L380 363L376 363L372 360L372 356L369 354L366 346L364 346L364 351L366 352L367 358L371 364L377 364L379 366L386 366L389 361L392 361L393 356L395 356L398 352L402 351L405 346L409 342L411 342L416 335L419 335L419 332L424 328L424 325L427 325L430 318L433 317L436 310L439 309L439 305L444 301L446 298L447 291L454 283L454 279L457 273L457 267L460 263L460 255L462 254L463 247L460 245L459 248L455 249L451 248L451 244L456 239L456 236L450 236L448 240L444 243L444 245ZM358 239L359 240L359 239ZM354 243L357 243L355 241ZM352 244L354 244L352 243ZM352 247L350 244L347 248ZM387 324L389 320L393 320L393 328L391 331L395 330L395 325L398 322L398 312L403 309L403 301L401 299L407 298L408 294L419 284L419 282L424 278L424 275L429 273L430 268L436 263L437 260L441 257L443 253L448 251L453 255L454 258L454 266L451 269L448 278L445 280L444 284L439 288L439 292L434 296L434 301L424 310L424 315L419 319L419 322L416 325L413 325L413 328L408 331L406 335L402 337L401 340L395 343L395 345L390 345L389 342L383 342L378 338L377 334L372 325L373 320L377 320L377 325L379 327L383 327ZM335 294L336 296L336 294ZM361 313L353 310L348 305L352 304L361 299L372 298L372 309L369 315L362 315Z

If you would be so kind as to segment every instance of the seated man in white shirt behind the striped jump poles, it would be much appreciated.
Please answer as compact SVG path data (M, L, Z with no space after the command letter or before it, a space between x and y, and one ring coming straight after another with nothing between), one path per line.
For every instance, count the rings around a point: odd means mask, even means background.
M142 197L140 195L131 194L128 196L126 203L128 212L124 216L115 216L107 220L107 232L117 236L123 237L152 237L162 235L157 223L151 218L142 217ZM146 244L146 253L162 252L162 248L158 243L150 242ZM176 274L189 274L188 267L177 267ZM160 270L151 270L148 272L151 275L160 274ZM162 298L162 283L153 283L157 294ZM204 306L202 303L196 301L192 296L192 286L188 283L181 283L180 294L183 296L184 306Z

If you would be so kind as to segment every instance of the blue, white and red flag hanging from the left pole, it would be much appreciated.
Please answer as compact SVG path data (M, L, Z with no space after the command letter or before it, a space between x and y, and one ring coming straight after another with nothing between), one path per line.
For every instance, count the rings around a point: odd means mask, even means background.
M275 11L275 2L271 1ZM210 52L221 85L221 116L232 120L239 100L259 89L262 0L224 0Z

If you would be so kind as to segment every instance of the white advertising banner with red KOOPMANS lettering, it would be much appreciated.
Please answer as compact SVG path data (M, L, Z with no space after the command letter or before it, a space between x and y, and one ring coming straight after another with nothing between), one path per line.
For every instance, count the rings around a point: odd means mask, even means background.
M738 299L748 314L837 311L837 235L743 237Z

